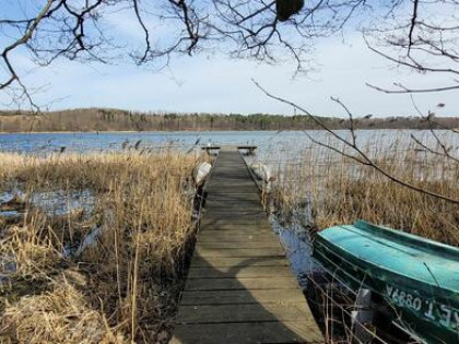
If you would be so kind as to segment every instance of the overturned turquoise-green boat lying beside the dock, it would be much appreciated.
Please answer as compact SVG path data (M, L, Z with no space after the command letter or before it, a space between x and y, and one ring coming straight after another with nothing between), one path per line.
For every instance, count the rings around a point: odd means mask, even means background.
M313 257L338 281L379 294L426 343L459 343L459 249L358 221L319 232Z

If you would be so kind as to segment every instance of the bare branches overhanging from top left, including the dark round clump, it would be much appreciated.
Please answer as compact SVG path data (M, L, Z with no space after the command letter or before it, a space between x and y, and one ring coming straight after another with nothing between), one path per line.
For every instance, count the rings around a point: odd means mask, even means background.
M275 62L293 58L308 68L315 37L341 29L369 10L365 0L5 0L0 14L0 91L33 100L19 55L38 66L58 59L168 64L176 55L219 50ZM137 23L139 40L117 37L113 19ZM111 21L111 22L110 22ZM306 66L305 66L306 62Z

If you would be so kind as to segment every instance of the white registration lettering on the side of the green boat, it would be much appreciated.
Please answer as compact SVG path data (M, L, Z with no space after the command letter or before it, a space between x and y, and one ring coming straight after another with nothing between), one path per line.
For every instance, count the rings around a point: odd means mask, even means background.
M443 327L459 329L459 310L434 300L423 299L416 295L419 295L417 292L408 293L393 285L386 284L385 296L391 304L416 311L420 317L437 322Z

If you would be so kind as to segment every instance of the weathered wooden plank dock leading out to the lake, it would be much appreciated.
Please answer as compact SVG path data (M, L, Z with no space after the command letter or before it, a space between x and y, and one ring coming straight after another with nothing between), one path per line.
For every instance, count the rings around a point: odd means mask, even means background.
M323 343L236 151L221 151L172 343Z

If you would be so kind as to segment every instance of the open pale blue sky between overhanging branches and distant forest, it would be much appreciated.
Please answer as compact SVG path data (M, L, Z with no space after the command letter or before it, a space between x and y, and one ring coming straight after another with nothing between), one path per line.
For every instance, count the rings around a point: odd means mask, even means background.
M121 15L121 14L120 14ZM140 33L132 22L119 16L114 26L127 38ZM117 21L117 22L116 22ZM0 33L1 35L1 33ZM2 37L0 36L0 46ZM310 112L345 117L330 97L339 97L354 116L415 116L409 95L387 95L366 86L372 83L390 87L395 82L423 87L449 84L447 75L421 75L369 51L360 33L323 38L311 55L315 71L295 78L295 63L275 66L229 59L223 54L184 56L168 68L153 70L127 62L82 64L58 60L51 67L36 68L26 54L16 54L15 63L27 70L23 81L36 87L38 104L50 109L109 107L139 111L281 114L293 115L291 106L267 97L252 80L276 96L293 100ZM10 107L0 93L0 107ZM457 92L414 96L423 111L437 116L459 116ZM436 105L443 103L442 109ZM14 107L14 106L13 106ZM299 114L299 112L298 112Z

